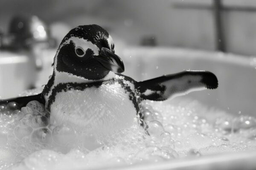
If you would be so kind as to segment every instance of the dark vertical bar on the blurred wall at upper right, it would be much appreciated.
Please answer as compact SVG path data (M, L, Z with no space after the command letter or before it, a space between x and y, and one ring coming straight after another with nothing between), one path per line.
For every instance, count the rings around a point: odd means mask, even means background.
M215 31L216 31L216 48L218 51L226 51L225 40L224 40L224 30L222 27L221 20L221 0L213 0L214 4L214 17L215 17Z

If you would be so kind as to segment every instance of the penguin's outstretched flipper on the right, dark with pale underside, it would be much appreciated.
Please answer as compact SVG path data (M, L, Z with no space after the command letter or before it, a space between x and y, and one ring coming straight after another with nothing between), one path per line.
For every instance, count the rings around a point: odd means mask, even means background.
M137 82L142 99L163 101L192 91L215 89L217 77L209 71L183 71Z

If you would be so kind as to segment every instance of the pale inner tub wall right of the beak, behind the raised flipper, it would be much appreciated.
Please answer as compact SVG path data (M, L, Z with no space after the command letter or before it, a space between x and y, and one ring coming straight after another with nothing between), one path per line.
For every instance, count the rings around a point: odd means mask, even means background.
M129 48L123 51L125 75L145 80L183 70L206 70L218 77L218 89L185 98L209 107L255 116L256 58L183 48Z

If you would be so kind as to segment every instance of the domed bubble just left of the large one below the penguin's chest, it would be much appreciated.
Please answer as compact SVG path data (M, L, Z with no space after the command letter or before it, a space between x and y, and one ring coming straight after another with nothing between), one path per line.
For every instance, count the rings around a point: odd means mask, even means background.
M52 133L48 128L39 128L33 131L31 137L31 142L38 142L43 144L51 144L52 143Z

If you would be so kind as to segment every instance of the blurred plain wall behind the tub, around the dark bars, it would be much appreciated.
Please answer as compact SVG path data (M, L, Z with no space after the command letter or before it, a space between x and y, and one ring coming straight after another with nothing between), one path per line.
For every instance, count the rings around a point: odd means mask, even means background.
M175 4L201 4L205 8L177 8ZM255 7L255 0L223 0L224 6ZM47 24L69 28L96 23L105 27L116 47L139 45L154 37L158 45L215 50L212 0L0 0L0 27L23 12L36 14ZM256 56L256 11L224 11L227 51ZM57 27L61 29L61 24Z

